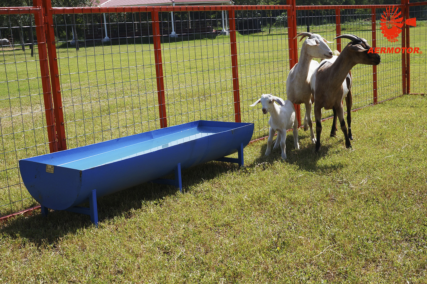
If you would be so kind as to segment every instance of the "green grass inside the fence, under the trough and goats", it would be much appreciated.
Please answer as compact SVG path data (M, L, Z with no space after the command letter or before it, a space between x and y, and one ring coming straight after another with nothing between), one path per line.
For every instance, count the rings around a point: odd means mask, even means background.
M353 115L314 153L299 131L245 166L183 171L184 194L142 184L88 216L38 212L0 229L3 283L426 283L427 98L405 95ZM375 121L375 123L371 123Z

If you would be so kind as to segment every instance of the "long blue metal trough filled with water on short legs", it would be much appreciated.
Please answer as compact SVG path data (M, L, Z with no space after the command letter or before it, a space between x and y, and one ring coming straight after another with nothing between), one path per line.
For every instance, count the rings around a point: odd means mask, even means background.
M197 120L19 161L24 185L48 208L88 214L98 223L97 198L153 181L181 186L181 169L208 161L243 165L253 123ZM238 158L225 156L238 152ZM175 173L175 180L161 177ZM89 201L89 207L79 204Z

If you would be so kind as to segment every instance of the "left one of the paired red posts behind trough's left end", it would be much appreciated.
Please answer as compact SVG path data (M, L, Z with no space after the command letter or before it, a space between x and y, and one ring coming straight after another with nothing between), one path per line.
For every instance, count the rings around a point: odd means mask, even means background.
M34 6L40 11L34 14L35 33L37 35L38 61L40 63L41 85L43 88L44 112L46 115L47 138L49 140L49 151L58 151L58 141L56 140L55 115L53 113L52 90L49 82L49 63L47 61L47 48L45 27L43 18L43 7L41 0L34 0Z

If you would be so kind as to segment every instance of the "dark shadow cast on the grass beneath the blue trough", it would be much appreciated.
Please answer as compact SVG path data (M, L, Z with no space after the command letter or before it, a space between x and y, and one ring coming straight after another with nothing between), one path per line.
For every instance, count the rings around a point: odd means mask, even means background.
M217 177L228 171L237 170L237 164L225 162L208 162L181 172L182 185L189 187ZM174 178L167 175L165 178ZM99 222L108 223L114 218L131 218L135 210L146 207L148 204L162 206L164 198L180 194L175 186L154 184L147 182L129 189L116 192L97 199ZM82 204L88 207L89 204ZM11 238L24 238L37 247L54 245L64 236L75 233L82 228L94 226L89 215L83 215L67 211L50 210L47 217L36 210L29 216L18 216L9 219L0 227L0 234Z

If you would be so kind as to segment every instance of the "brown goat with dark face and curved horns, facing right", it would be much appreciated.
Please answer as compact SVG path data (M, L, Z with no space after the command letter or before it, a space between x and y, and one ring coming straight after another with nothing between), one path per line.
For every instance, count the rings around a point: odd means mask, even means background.
M320 135L322 133L322 108L332 109L333 123L330 136L336 134L336 117L339 118L341 130L344 133L345 147L351 148L351 105L353 97L351 94L351 68L356 64L378 65L381 62L380 55L368 53L371 46L364 38L354 34L342 34L337 38L351 40L342 50L339 56L323 60L311 76L311 92L314 95L314 117L316 119L316 152L320 149ZM344 109L342 100L345 98L347 104L347 127L344 121Z

